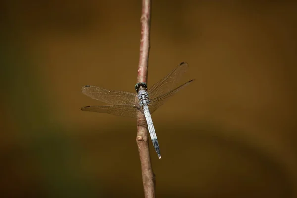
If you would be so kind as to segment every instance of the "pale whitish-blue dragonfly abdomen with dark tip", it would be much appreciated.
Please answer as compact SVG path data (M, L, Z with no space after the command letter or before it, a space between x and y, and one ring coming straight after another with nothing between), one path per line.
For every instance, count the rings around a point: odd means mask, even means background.
M160 147L159 147L159 142L158 142L158 138L157 138L157 134L156 134L156 130L153 126L153 122L151 119L151 115L150 115L150 111L148 108L148 105L143 106L143 111L147 120L147 124L148 124L148 131L150 134L150 138L152 140L152 144L158 154L159 159L161 159L161 152L160 152Z

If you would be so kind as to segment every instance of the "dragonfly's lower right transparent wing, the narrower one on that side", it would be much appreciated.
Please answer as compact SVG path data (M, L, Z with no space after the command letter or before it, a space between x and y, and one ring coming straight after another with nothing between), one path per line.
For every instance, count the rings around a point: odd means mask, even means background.
M166 99L168 99L169 97L171 97L172 95L174 95L175 93L177 93L178 91L180 91L181 89L183 89L184 87L186 87L187 85L192 83L193 81L194 81L194 79L184 83L183 85L175 88L174 90L171 90L170 92L168 92L162 96L152 99L149 102L150 113L155 112L160 106L162 106L165 103Z

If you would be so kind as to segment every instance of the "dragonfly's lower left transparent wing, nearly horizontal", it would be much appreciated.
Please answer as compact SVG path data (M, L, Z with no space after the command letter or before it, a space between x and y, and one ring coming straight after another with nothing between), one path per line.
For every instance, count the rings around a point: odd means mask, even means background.
M139 105L135 103L134 105L85 106L81 110L136 118Z

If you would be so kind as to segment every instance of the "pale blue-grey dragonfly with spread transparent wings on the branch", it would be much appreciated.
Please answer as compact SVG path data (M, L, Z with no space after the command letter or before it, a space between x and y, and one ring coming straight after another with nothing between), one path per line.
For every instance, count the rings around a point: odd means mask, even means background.
M180 63L172 72L154 84L149 90L146 83L139 82L135 85L136 94L124 91L107 90L91 85L83 86L81 90L83 94L109 105L85 106L82 107L81 110L132 118L136 118L139 112L143 113L146 118L152 144L159 159L161 159L159 142L152 122L151 114L162 106L169 97L195 80L192 79L176 87L180 78L187 69L188 64L186 62Z

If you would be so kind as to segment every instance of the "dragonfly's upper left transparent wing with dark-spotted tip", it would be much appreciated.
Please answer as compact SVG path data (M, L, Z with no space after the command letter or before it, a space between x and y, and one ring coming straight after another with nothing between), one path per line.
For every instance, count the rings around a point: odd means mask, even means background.
M111 105L133 104L137 101L136 94L131 92L106 90L92 85L83 86L82 93L92 99Z

